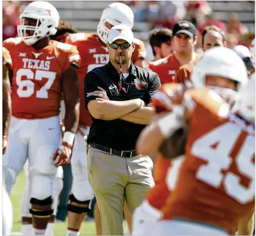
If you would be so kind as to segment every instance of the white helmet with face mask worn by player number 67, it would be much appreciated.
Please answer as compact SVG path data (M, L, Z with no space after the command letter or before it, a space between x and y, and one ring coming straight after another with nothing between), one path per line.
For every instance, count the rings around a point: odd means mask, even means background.
M36 26L27 26L24 18L32 18L37 20ZM34 1L28 4L20 14L20 25L18 35L24 39L26 45L33 45L38 40L55 35L57 32L60 15L52 4L44 1ZM26 35L27 31L34 31L33 35Z

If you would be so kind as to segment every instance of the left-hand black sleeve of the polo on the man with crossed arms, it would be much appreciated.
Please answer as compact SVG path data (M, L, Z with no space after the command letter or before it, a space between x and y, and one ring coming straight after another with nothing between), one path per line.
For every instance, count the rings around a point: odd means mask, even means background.
M97 96L94 95L94 92L96 90L99 90L98 87L102 87L103 89L105 89L105 86L101 78L99 78L99 76L94 71L89 72L85 76L84 84L85 108L88 109L89 101L96 100L97 98Z

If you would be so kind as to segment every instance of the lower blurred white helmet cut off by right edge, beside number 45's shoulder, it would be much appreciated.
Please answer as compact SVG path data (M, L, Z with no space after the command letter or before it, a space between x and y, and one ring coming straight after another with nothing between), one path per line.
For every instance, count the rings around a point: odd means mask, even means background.
M234 110L250 122L255 124L255 74L251 76L246 86L238 90L241 100L235 103Z

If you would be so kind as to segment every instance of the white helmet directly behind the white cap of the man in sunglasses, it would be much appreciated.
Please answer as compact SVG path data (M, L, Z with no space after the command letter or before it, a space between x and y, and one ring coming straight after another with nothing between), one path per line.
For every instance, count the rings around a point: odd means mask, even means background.
M101 20L97 26L97 34L102 42L107 43L107 35L110 29L106 27L106 22L116 26L118 24L125 24L129 28L133 28L134 15L133 11L127 5L121 2L114 2L103 10Z

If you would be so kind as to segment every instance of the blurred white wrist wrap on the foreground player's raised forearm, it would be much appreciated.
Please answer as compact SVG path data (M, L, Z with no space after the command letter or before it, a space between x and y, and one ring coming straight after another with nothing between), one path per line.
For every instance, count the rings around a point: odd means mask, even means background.
M184 108L176 106L173 111L158 120L158 128L165 138L169 138L178 128L184 125L183 115Z

